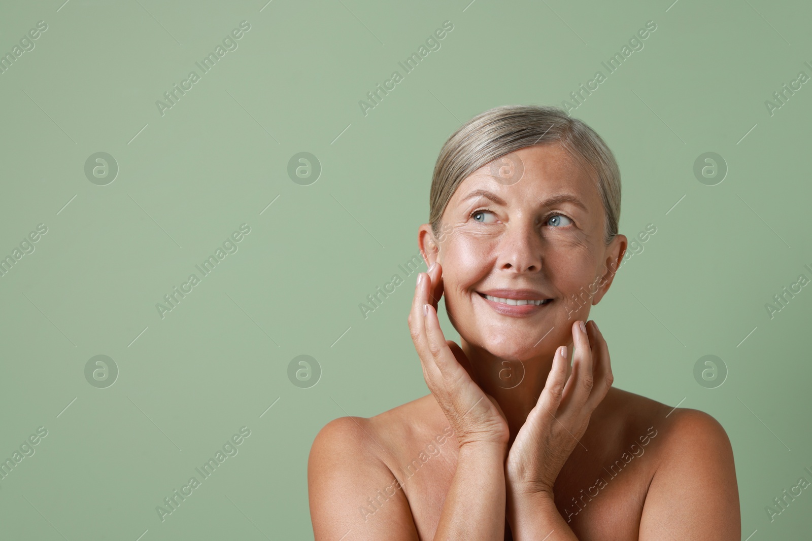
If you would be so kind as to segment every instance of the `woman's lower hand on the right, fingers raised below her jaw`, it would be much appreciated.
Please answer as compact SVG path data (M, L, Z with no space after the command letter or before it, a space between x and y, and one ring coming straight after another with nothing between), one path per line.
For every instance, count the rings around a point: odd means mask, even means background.
M538 402L527 415L516 434L505 464L508 494L550 496L553 484L572 449L581 440L598 404L612 384L609 350L594 321L588 327L590 336L572 324L575 352L572 374L566 346L555 351L555 358ZM590 349L590 343L592 347ZM564 352L562 353L562 350Z

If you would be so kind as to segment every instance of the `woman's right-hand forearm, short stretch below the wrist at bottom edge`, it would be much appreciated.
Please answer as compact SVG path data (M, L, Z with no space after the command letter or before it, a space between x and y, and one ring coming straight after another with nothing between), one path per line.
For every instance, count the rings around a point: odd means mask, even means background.
M514 541L578 541L555 507L552 494L508 492L506 513Z

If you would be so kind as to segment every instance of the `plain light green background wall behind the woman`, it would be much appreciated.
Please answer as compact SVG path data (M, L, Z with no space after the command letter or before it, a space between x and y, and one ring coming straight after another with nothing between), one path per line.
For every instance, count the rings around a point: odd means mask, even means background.
M620 231L657 227L591 316L616 387L723 424L742 538L809 535L808 491L775 522L764 509L812 467L812 292L772 320L764 306L812 277L812 88L764 105L810 75L808 2L62 2L0 13L2 54L48 24L0 75L0 255L48 227L0 277L0 457L48 430L0 480L0 537L312 539L318 430L428 393L398 265L419 253L443 142L491 107L560 105L649 20L644 49L572 112L619 161ZM159 114L242 20L239 48ZM445 20L441 49L362 114ZM94 152L119 164L107 186L84 175ZM287 175L297 152L322 164L312 185ZM694 177L703 152L728 164L716 186ZM239 250L158 316L243 223ZM358 304L395 273L406 283L365 320ZM84 378L97 354L119 367L107 389ZM310 389L287 377L300 354L322 367ZM693 377L706 354L728 367L717 389ZM242 426L239 454L161 522Z

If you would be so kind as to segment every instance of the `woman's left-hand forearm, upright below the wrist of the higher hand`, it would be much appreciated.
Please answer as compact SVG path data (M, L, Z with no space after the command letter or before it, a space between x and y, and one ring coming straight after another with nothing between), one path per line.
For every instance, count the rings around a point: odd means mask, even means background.
M434 539L504 539L506 452L499 444L460 448Z

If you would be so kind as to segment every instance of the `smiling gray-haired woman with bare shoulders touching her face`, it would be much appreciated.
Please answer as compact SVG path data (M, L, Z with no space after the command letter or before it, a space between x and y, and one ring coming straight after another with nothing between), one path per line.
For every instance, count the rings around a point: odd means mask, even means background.
M431 393L318 433L317 541L740 539L723 428L611 387L585 324L626 251L619 218L614 156L561 109L498 107L451 135L408 316Z

